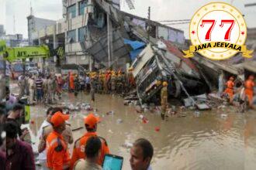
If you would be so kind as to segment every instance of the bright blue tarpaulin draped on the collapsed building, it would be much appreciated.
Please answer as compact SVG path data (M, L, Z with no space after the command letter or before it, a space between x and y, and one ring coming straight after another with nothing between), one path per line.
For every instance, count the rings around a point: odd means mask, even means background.
M144 49L146 44L144 42L139 41L131 41L130 39L123 39L125 44L129 44L133 50L130 51L130 58L132 60L136 59L136 57L139 55L139 53Z

